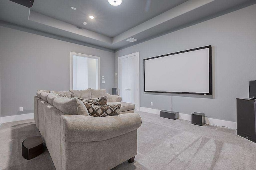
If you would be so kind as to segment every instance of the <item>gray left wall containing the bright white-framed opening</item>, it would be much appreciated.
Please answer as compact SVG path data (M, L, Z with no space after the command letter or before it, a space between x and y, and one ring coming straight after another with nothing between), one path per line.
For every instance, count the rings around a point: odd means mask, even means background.
M69 90L70 51L100 57L100 88L111 93L114 53L0 26L1 116L34 113L37 89Z

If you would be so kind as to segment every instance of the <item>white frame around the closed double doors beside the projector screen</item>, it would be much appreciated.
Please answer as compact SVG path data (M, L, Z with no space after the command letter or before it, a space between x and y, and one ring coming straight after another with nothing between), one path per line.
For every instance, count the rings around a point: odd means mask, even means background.
M125 59L125 58L129 58L129 57L134 57L136 56L136 59L137 59L137 62L138 62L138 68L137 71L140 72L140 52L136 52L136 53L132 53L132 54L128 54L128 55L124 55L124 56L121 56L121 57L118 57L118 95L120 94L120 59ZM137 90L135 92L136 94L136 99L137 99L137 107L138 107L138 111L140 110L140 74L138 74L138 76L136 77L136 87L137 87ZM122 97L122 96L121 96Z

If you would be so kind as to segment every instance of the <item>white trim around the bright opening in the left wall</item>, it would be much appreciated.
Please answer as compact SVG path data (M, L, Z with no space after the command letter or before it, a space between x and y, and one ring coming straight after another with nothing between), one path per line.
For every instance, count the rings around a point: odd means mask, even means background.
M100 57L93 56L93 55L87 55L87 54L81 54L81 53L75 53L70 51L70 89L73 90L73 55L78 55L81 57L87 57L91 59L98 59L98 89L100 89Z

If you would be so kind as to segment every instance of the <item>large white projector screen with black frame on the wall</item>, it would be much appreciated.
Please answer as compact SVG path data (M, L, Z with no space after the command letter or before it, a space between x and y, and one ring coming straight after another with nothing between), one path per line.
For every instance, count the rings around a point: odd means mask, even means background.
M144 92L212 95L212 46L143 60Z

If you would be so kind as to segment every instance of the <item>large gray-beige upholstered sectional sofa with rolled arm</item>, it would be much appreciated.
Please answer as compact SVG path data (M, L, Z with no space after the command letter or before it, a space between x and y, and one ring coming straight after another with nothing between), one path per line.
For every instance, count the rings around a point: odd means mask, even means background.
M94 94L91 97L100 95L100 92L92 91ZM56 92L60 93L68 97L73 95L72 92ZM57 170L109 170L126 160L133 162L137 154L140 115L126 113L109 117L86 116L82 113L84 105L79 105L79 100L62 100L62 97L52 100L48 94L39 91L34 98L35 122ZM120 103L122 100L112 95L108 99L112 103ZM76 102L74 108L76 111L80 109L80 112L75 113L71 103L65 104L64 100ZM128 105L126 107L132 108ZM70 111L70 114L65 114L66 110L63 109ZM123 112L131 110L123 109Z

